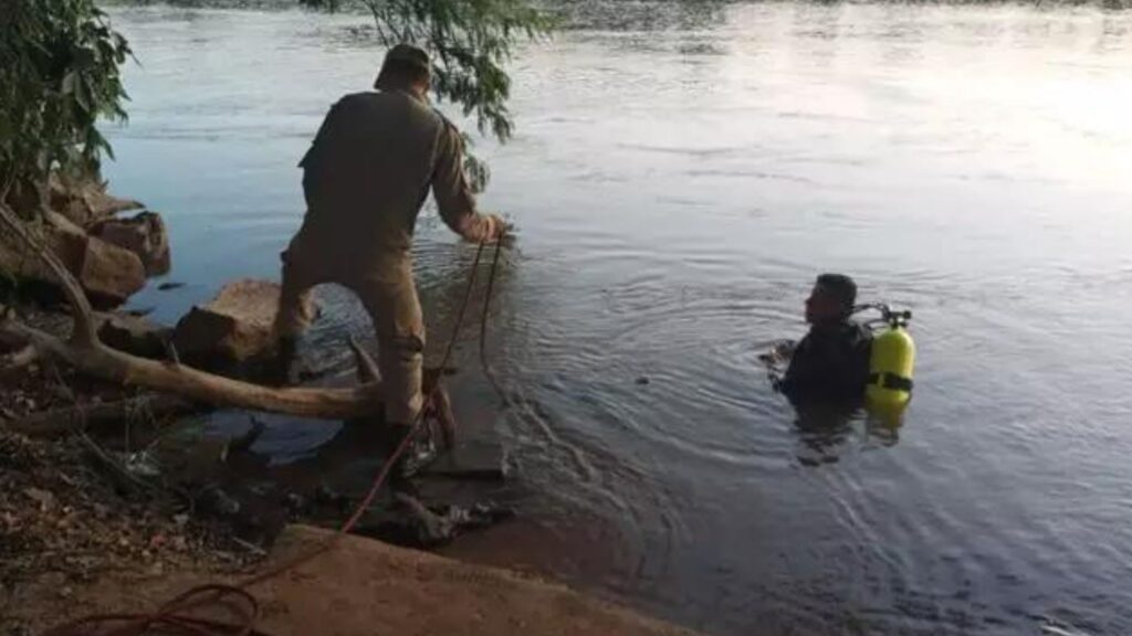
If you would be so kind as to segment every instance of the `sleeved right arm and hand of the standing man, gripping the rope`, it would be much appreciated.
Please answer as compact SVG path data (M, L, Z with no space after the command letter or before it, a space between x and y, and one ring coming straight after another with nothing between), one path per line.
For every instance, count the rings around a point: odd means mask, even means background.
M495 215L475 212L475 195L464 174L464 143L454 126L445 120L437 143L432 196L440 218L471 242L494 241L503 233L503 222Z

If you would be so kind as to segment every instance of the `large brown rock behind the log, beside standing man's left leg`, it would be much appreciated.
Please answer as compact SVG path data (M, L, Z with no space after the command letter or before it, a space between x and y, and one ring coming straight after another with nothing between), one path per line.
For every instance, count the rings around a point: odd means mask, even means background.
M215 366L261 359L274 351L272 333L280 286L243 280L224 286L177 324L173 344L182 360Z

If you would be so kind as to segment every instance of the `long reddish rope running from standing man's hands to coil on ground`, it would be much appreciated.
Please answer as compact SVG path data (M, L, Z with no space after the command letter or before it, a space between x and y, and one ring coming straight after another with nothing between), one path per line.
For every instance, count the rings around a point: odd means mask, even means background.
M490 367L487 363L483 338L487 334L487 319L491 304L491 292L495 286L495 277L499 264L499 253L503 251L500 243L501 238L500 241L496 243L495 258L491 261L491 273L488 278L487 296L483 304L483 312L481 315L480 363L482 364L486 373L489 373ZM471 303L472 290L475 286L477 270L479 269L480 261L482 260L483 249L486 246L487 242L480 242L475 250L475 260L472 264L472 270L468 277L468 286L464 289L464 298L460 306L460 312L456 316L456 324L453 326L452 336L448 338L448 344L445 347L444 358L440 362L441 369L448 367L452 353L456 347L456 341L460 337L460 328L463 326L464 317L468 313L468 306ZM499 384L495 379L494 373L490 373L488 377L496 392L503 396L503 392L500 390ZM429 399L436 396L436 392L439 390L439 383L432 386L429 390ZM250 592L247 591L247 588L266 581L271 581L272 578L298 568L299 566L302 566L303 564L307 564L320 555L334 549L338 542L342 541L342 539L349 534L355 525L358 525L358 522L361 521L366 510L372 505L374 499L377 498L377 493L381 489L381 485L388 479L393 466L396 465L397 459L400 459L401 456L409 449L413 436L417 433L423 421L424 409L422 407L417 414L417 419L411 424L409 435L401 440L397 448L381 465L381 470L377 473L377 476L370 484L366 497L362 498L353 514L350 515L350 518L348 518L338 527L334 535L327 539L323 544L317 545L310 551L299 555L293 559L285 560L266 571L246 578L235 585L206 584L192 587L183 594L162 604L152 613L104 613L88 616L66 622L58 627L53 627L45 631L43 636L144 636L146 634L160 634L164 636L269 636L268 634L256 629L256 622L259 619L259 602ZM230 613L235 614L235 617L233 620L225 621L186 614L186 612L199 610L204 607L225 608ZM111 627L114 628L111 629Z

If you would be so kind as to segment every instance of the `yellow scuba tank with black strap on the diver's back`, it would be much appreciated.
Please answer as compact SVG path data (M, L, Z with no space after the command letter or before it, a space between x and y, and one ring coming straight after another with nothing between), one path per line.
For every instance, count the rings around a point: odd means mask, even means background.
M908 333L910 311L878 306L887 328L873 337L865 404L881 415L899 415L912 397L916 343Z

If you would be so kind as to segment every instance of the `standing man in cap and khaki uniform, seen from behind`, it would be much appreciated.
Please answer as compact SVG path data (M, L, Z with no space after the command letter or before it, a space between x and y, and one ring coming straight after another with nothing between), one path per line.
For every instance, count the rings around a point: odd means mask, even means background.
M331 109L307 155L307 214L283 252L275 328L281 366L310 323L310 290L337 283L353 291L377 333L385 421L402 438L423 405L424 325L413 282L417 216L431 188L440 217L469 241L505 232L475 212L463 170L460 132L428 102L428 54L406 44L385 57L376 92L346 95Z

